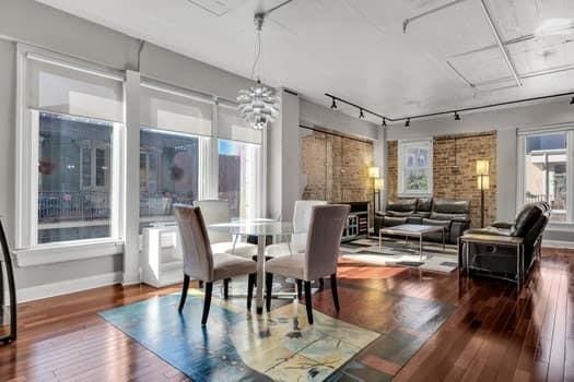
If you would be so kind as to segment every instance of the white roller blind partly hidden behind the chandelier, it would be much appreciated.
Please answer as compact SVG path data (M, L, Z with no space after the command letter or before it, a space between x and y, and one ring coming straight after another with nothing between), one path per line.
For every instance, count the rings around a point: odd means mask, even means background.
M218 107L218 136L223 140L262 144L263 133L245 122L237 107L231 104L220 104Z

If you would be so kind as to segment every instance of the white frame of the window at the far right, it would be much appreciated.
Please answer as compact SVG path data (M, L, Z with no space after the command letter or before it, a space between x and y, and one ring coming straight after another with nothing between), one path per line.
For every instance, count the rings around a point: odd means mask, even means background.
M574 123L559 124L539 129L523 129L518 131L517 144L517 179L516 179L516 211L525 204L526 182L526 139L532 135L548 135L555 133L567 133L566 140L566 222L549 222L549 227L569 228L574 226ZM570 229L570 228L569 228Z

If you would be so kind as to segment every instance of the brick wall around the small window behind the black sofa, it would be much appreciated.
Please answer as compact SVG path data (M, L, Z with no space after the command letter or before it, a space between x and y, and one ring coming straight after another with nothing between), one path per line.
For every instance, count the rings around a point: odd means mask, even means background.
M397 198L398 144L388 142L388 192ZM476 162L489 159L490 189L484 192L484 224L496 218L496 132L435 136L433 145L434 198L471 201L472 227L480 226L480 190Z

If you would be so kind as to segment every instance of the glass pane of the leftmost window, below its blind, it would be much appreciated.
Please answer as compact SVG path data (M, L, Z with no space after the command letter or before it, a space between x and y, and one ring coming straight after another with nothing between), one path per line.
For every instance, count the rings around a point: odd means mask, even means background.
M34 112L38 136L38 243L110 236L114 126Z

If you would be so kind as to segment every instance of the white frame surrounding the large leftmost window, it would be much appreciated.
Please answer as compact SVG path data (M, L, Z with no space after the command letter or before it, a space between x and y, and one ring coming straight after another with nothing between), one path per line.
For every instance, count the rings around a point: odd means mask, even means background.
M39 156L38 134L39 114L44 110L27 107L27 56L42 57L47 62L74 69L79 72L102 75L117 81L124 81L120 71L95 65L90 62L56 53L38 47L19 44L16 48L16 182L15 182L15 254L17 264L31 266L54 262L87 259L99 255L118 254L122 252L124 229L120 222L119 206L122 204L120 180L124 177L121 157L124 153L125 124L115 121L113 147L110 152L113 168L110 188L110 236L106 238L38 243L38 174ZM52 114L50 110L46 112ZM60 112L61 114L61 112ZM98 120L90 117L91 120ZM46 254L45 256L43 254Z

